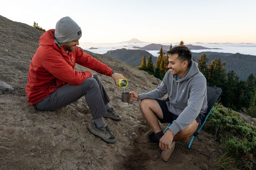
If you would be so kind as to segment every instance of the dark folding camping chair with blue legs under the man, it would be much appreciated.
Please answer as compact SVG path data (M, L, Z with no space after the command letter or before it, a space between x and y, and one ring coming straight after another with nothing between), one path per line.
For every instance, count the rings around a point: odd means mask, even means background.
M222 90L221 88L218 88L218 87L209 87L207 86L207 104L208 104L208 108L207 108L207 112L205 113L205 118L204 120L202 120L202 124L201 126L199 127L199 130L196 131L194 134L193 134L193 137L189 143L189 146L188 146L188 149L190 149L191 147L191 144L194 140L195 137L197 137L197 139L199 141L201 141L198 137L198 134L199 132L201 131L201 129L203 128L207 118L209 117L210 113L212 112L212 108L214 106L214 104L216 103L216 101L218 100L218 98L220 97L220 94L221 94ZM164 130L164 132L167 130L167 128L171 125L171 123L169 123L166 127L166 129Z

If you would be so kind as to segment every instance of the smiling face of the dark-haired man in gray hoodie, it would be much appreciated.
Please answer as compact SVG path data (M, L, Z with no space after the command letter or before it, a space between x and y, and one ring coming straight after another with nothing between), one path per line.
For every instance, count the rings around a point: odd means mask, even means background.
M177 58L178 56L178 54L170 54L168 59L169 64L167 67L170 69L172 75L177 74L179 78L182 78L187 71L187 61L181 62Z

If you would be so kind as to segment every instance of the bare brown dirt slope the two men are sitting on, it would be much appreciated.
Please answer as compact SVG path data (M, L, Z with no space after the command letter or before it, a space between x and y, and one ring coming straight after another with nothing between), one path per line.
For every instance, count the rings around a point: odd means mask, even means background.
M25 87L29 64L43 32L1 15L0 29L0 81L14 88L11 94L0 95L1 170L220 169L212 167L222 154L220 145L204 131L200 134L203 142L195 139L190 150L189 141L177 142L170 160L164 162L156 143L148 142L145 137L149 127L140 113L139 102L122 103L123 89L105 75L99 76L109 93L110 104L122 116L121 122L106 119L117 136L116 143L107 144L87 130L92 117L84 104L85 98L57 111L35 111L27 103ZM134 66L85 52L122 73L129 80L127 91L147 92L159 84L156 78ZM88 69L77 65L76 70Z

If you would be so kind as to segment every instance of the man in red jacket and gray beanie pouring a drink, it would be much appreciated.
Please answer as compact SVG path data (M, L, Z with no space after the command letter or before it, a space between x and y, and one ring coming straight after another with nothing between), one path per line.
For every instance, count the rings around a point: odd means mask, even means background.
M39 39L40 46L31 60L26 93L28 102L41 111L53 111L67 106L85 96L93 117L88 129L108 143L117 138L110 132L103 117L119 121L109 105L109 97L97 74L77 72L75 64L82 65L100 74L111 76L117 84L125 79L106 64L79 49L82 30L68 16L60 19L54 29L46 31Z

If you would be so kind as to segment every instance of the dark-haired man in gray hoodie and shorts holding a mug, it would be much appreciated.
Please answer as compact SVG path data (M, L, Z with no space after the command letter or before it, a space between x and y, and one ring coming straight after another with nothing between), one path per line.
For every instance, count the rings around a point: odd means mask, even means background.
M185 46L177 46L166 53L169 70L159 86L146 94L130 92L131 100L141 100L140 110L153 131L147 133L151 142L158 142L163 150L161 157L167 161L175 141L187 141L201 125L207 111L206 79L198 64L191 60ZM160 100L168 94L168 98ZM158 123L171 123L163 133Z

